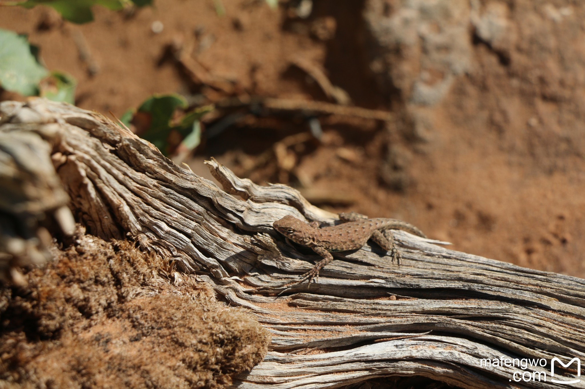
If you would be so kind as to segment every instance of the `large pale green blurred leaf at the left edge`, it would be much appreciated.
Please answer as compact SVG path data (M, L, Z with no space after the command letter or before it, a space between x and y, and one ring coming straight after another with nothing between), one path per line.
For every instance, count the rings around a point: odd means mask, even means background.
M39 64L37 52L25 36L0 29L0 85L23 96L38 94L37 85L49 71Z

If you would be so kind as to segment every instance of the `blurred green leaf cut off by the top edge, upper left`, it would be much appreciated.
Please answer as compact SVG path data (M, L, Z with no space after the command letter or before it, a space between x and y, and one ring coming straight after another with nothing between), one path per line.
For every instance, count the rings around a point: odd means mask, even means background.
M123 0L28 0L20 6L33 8L37 5L53 7L63 16L63 19L73 23L88 23L94 20L91 7L101 5L108 9L119 10L124 6Z

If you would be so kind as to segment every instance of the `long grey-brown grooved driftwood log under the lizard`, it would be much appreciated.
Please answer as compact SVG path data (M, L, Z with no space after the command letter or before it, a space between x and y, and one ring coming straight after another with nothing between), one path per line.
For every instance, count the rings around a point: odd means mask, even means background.
M5 102L0 115L0 133L27 132L50 145L70 208L89 232L136 240L195 272L272 333L271 351L238 377L238 388L330 388L390 376L462 388L585 388L585 380L552 381L578 380L576 363L557 363L550 375L555 357L585 360L583 279L395 232L400 265L365 246L335 254L318 282L284 289L319 258L287 243L274 220L336 222L296 190L256 185L212 160L222 190L102 115L66 104Z

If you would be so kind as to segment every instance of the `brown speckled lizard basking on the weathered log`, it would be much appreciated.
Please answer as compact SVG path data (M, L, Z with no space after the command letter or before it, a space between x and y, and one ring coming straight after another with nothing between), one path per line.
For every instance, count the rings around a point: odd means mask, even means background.
M301 276L301 281L295 283L301 283L306 279L310 283L313 278L318 278L319 270L333 261L332 252L362 248L369 239L384 250L391 251L393 261L394 258L400 261L400 254L394 247L394 237L389 234L390 237L387 239L382 233L383 230L404 230L426 238L417 227L401 220L367 219L355 212L340 213L339 218L345 223L323 228L319 228L318 222L307 224L291 215L284 216L273 223L274 229L285 237L302 246L311 247L315 253L323 257L310 271Z

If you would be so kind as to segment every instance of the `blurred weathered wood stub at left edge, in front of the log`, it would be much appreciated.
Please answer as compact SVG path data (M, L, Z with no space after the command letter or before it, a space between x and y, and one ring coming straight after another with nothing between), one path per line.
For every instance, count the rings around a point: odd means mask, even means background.
M21 104L6 102L5 112ZM0 281L24 285L18 268L51 258L51 236L43 224L54 219L73 233L68 196L51 164L47 142L32 131L0 132Z

